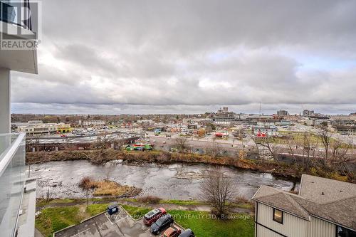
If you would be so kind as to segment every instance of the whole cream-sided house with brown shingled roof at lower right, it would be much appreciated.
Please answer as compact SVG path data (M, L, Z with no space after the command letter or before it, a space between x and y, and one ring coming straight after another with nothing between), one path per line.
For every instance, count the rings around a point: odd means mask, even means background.
M356 184L302 175L299 194L261 186L256 237L355 237Z

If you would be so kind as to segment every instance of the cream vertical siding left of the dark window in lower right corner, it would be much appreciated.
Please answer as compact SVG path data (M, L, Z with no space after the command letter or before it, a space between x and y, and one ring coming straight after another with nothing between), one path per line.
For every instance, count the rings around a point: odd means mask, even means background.
M311 216L307 227L307 237L335 237L335 225Z

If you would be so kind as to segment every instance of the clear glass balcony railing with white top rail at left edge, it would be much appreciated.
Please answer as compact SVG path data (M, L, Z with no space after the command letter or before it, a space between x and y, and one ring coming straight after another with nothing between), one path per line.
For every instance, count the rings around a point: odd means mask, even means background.
M0 135L0 236L15 236L25 184L25 134Z

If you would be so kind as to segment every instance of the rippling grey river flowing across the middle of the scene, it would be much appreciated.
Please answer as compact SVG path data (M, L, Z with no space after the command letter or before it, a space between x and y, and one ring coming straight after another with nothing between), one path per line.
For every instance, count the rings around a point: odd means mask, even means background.
M212 166L207 164L145 164L134 166L121 163L92 164L85 160L46 162L31 165L31 177L37 180L37 197L84 198L78 187L83 177L106 179L142 189L141 196L153 195L162 199L199 199L202 176ZM278 179L268 173L222 167L231 177L239 194L250 199L262 184L290 191L293 182Z

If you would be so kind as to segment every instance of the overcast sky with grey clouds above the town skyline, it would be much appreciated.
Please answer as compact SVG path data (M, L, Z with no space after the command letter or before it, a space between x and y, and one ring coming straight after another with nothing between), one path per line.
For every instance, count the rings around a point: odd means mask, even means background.
M43 0L12 112L356 112L356 1Z

